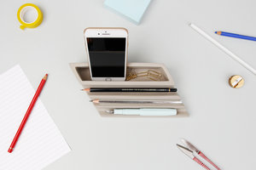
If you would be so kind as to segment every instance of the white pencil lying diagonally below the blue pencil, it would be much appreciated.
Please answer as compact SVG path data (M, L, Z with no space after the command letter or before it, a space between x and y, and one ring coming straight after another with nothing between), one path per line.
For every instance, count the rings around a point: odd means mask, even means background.
M253 72L254 75L256 75L256 70L253 69L251 65L248 65L246 62L244 62L242 59L240 59L236 54L233 54L230 49L225 48L222 44L217 42L215 39L210 37L205 31L202 31L201 28L198 26L195 26L195 24L190 23L189 26L193 28L195 31L201 34L201 36L207 38L210 42L212 42L214 45L216 45L218 48L222 49L226 54L229 54L232 59L235 59L238 63L240 63L242 66L244 66L248 71Z

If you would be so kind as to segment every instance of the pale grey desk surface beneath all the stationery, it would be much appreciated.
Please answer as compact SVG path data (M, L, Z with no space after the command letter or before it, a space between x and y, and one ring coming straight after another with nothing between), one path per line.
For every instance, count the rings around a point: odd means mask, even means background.
M0 72L20 64L34 88L49 73L44 105L72 151L45 170L202 169L176 144L188 139L222 169L255 169L256 77L212 45L195 23L256 68L256 42L219 37L230 31L256 37L256 1L153 0L134 25L103 6L103 0L35 1L41 26L20 30L21 0L1 1ZM86 62L84 28L123 26L129 34L129 62L165 63L189 117L104 118L80 91L68 63ZM228 78L245 78L241 89Z

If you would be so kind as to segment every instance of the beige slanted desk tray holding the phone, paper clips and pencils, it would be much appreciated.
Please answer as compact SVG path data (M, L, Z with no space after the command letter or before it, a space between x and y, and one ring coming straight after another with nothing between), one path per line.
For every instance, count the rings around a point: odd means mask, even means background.
M145 77L137 77L130 81L124 82L105 82L105 81L91 81L90 70L87 63L71 63L70 67L77 77L83 88L175 88L174 82L166 66L163 64L156 63L128 63L127 74L129 71L157 71L161 74L161 80L154 81ZM177 89L178 90L178 89ZM166 93L166 92L150 92L150 93L127 93L127 92L116 92L116 93L91 93L87 92L90 99L129 99L129 100L170 100L170 99L181 99L177 93ZM109 114L107 110L113 110L117 108L174 108L177 109L177 115L173 117L189 116L184 105L180 104L114 104L114 103L101 103L94 104L96 110L101 116L122 116ZM122 116L131 117L131 116ZM132 116L137 117L137 116ZM162 117L162 116L161 116Z

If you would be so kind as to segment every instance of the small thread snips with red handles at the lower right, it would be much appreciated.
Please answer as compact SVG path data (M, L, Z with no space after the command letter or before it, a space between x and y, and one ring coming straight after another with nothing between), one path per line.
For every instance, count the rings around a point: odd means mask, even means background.
M199 156L201 156L204 160L208 161L209 163L212 164L213 167L216 169L220 170L217 165L215 165L211 160L207 158L200 150L196 149L193 144L190 144L187 140L181 139L183 144L187 145L188 148L184 147L183 145L177 144L177 148L179 150L182 150L184 154L189 156L192 160L200 164L202 167L205 167L207 170L211 170L209 167L207 167L202 161L200 161L197 157L195 157L194 153L197 153Z

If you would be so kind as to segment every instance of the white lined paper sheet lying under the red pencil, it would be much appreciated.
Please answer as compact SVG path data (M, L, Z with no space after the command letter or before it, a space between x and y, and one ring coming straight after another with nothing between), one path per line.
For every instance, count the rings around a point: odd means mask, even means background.
M46 91L45 88L42 92ZM70 151L40 99L34 105L14 151L7 151L34 94L35 90L20 65L0 75L1 170L42 169Z

